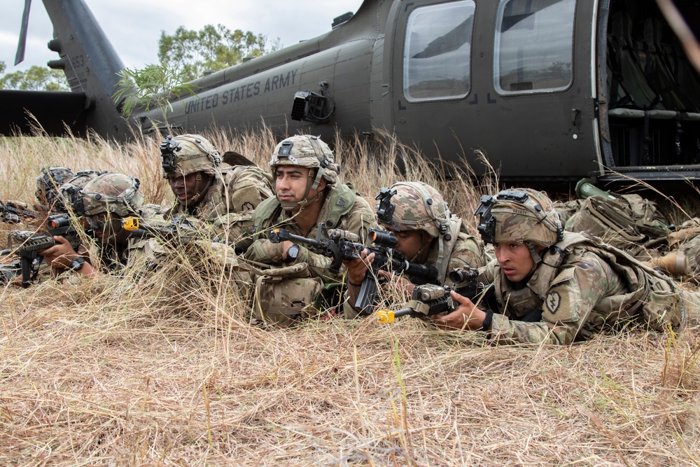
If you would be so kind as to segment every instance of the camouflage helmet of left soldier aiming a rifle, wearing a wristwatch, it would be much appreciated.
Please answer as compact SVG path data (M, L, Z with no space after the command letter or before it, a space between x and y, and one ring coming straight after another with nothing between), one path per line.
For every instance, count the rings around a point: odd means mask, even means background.
M141 182L133 176L106 172L90 180L73 196L78 216L96 216L110 212L124 217L136 214L144 202Z

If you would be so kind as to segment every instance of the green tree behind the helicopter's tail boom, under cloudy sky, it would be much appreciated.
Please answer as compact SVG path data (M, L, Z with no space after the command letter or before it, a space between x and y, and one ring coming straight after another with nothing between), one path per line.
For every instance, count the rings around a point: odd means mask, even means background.
M158 41L158 59L184 71L185 81L238 64L244 57L260 57L280 48L279 39L267 47L267 36L251 31L231 31L223 25L206 25L200 31L184 27L169 36L164 31Z

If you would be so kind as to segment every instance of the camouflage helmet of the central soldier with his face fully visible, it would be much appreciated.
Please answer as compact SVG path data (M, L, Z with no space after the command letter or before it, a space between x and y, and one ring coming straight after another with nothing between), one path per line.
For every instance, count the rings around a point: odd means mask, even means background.
M316 180L314 186L318 187L321 179L325 179L329 185L335 185L338 181L340 166L335 164L333 153L328 144L325 144L319 137L308 134L298 134L287 138L274 148L269 167L272 169L274 177L275 168L278 165L297 165L316 169Z

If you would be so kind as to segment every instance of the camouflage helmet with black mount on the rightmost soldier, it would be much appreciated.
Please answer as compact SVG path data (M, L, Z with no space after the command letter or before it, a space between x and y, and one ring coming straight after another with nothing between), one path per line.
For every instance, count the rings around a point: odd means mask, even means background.
M483 203L484 198L482 206ZM561 239L563 228L559 214L554 210L552 200L542 191L530 188L503 190L491 207L491 215L496 223L493 243L531 242L547 247ZM479 232L487 241L482 223L479 223Z

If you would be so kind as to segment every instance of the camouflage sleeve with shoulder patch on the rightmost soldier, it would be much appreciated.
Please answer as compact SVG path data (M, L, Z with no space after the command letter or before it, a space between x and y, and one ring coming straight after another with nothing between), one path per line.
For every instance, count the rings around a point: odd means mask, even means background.
M494 314L491 337L498 343L526 342L570 344L584 340L603 327L615 312L624 284L610 265L586 251L560 267L544 294L542 318L537 322L515 321Z

